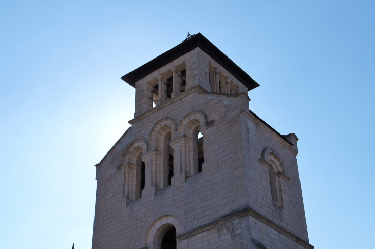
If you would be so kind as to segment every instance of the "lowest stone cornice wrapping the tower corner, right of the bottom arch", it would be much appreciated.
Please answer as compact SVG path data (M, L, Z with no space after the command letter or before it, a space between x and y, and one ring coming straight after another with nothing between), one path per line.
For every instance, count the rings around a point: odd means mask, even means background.
M301 246L303 246L307 249L314 249L314 246L311 245L308 241L299 238L298 236L296 236L292 232L288 231L284 227L276 224L272 220L268 219L266 216L260 214L259 212L257 212L255 209L253 209L250 206L240 207L236 210L233 210L232 212L229 212L227 214L222 215L221 217L219 217L216 220L213 220L213 221L211 221L207 224L203 224L201 226L195 227L188 232L177 234L176 237L180 240L186 239L186 238L189 238L191 236L202 233L204 231L207 231L208 229L211 229L213 227L216 227L216 226L219 226L219 225L222 225L222 224L226 224L228 222L237 220L239 218L242 218L242 217L245 217L245 216L248 216L248 215L250 215L251 217L257 219L258 221L268 225L269 227L273 228L278 233L280 233L280 234L284 235L285 237L291 239L292 241L296 242L297 244L299 244L299 245L301 245Z

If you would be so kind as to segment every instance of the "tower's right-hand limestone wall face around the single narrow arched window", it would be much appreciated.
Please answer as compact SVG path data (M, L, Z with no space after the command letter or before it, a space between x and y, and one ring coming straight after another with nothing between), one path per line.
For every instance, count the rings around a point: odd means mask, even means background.
M244 157L247 176L249 177L247 180L249 204L272 221L308 241L296 159L296 144L291 146L286 143L264 125L259 126L254 122L255 119L248 113L245 113L242 117L243 130L245 131L243 133ZM285 170L286 177L279 179L283 207L272 201L269 168L260 162L265 148L271 148L275 151Z

